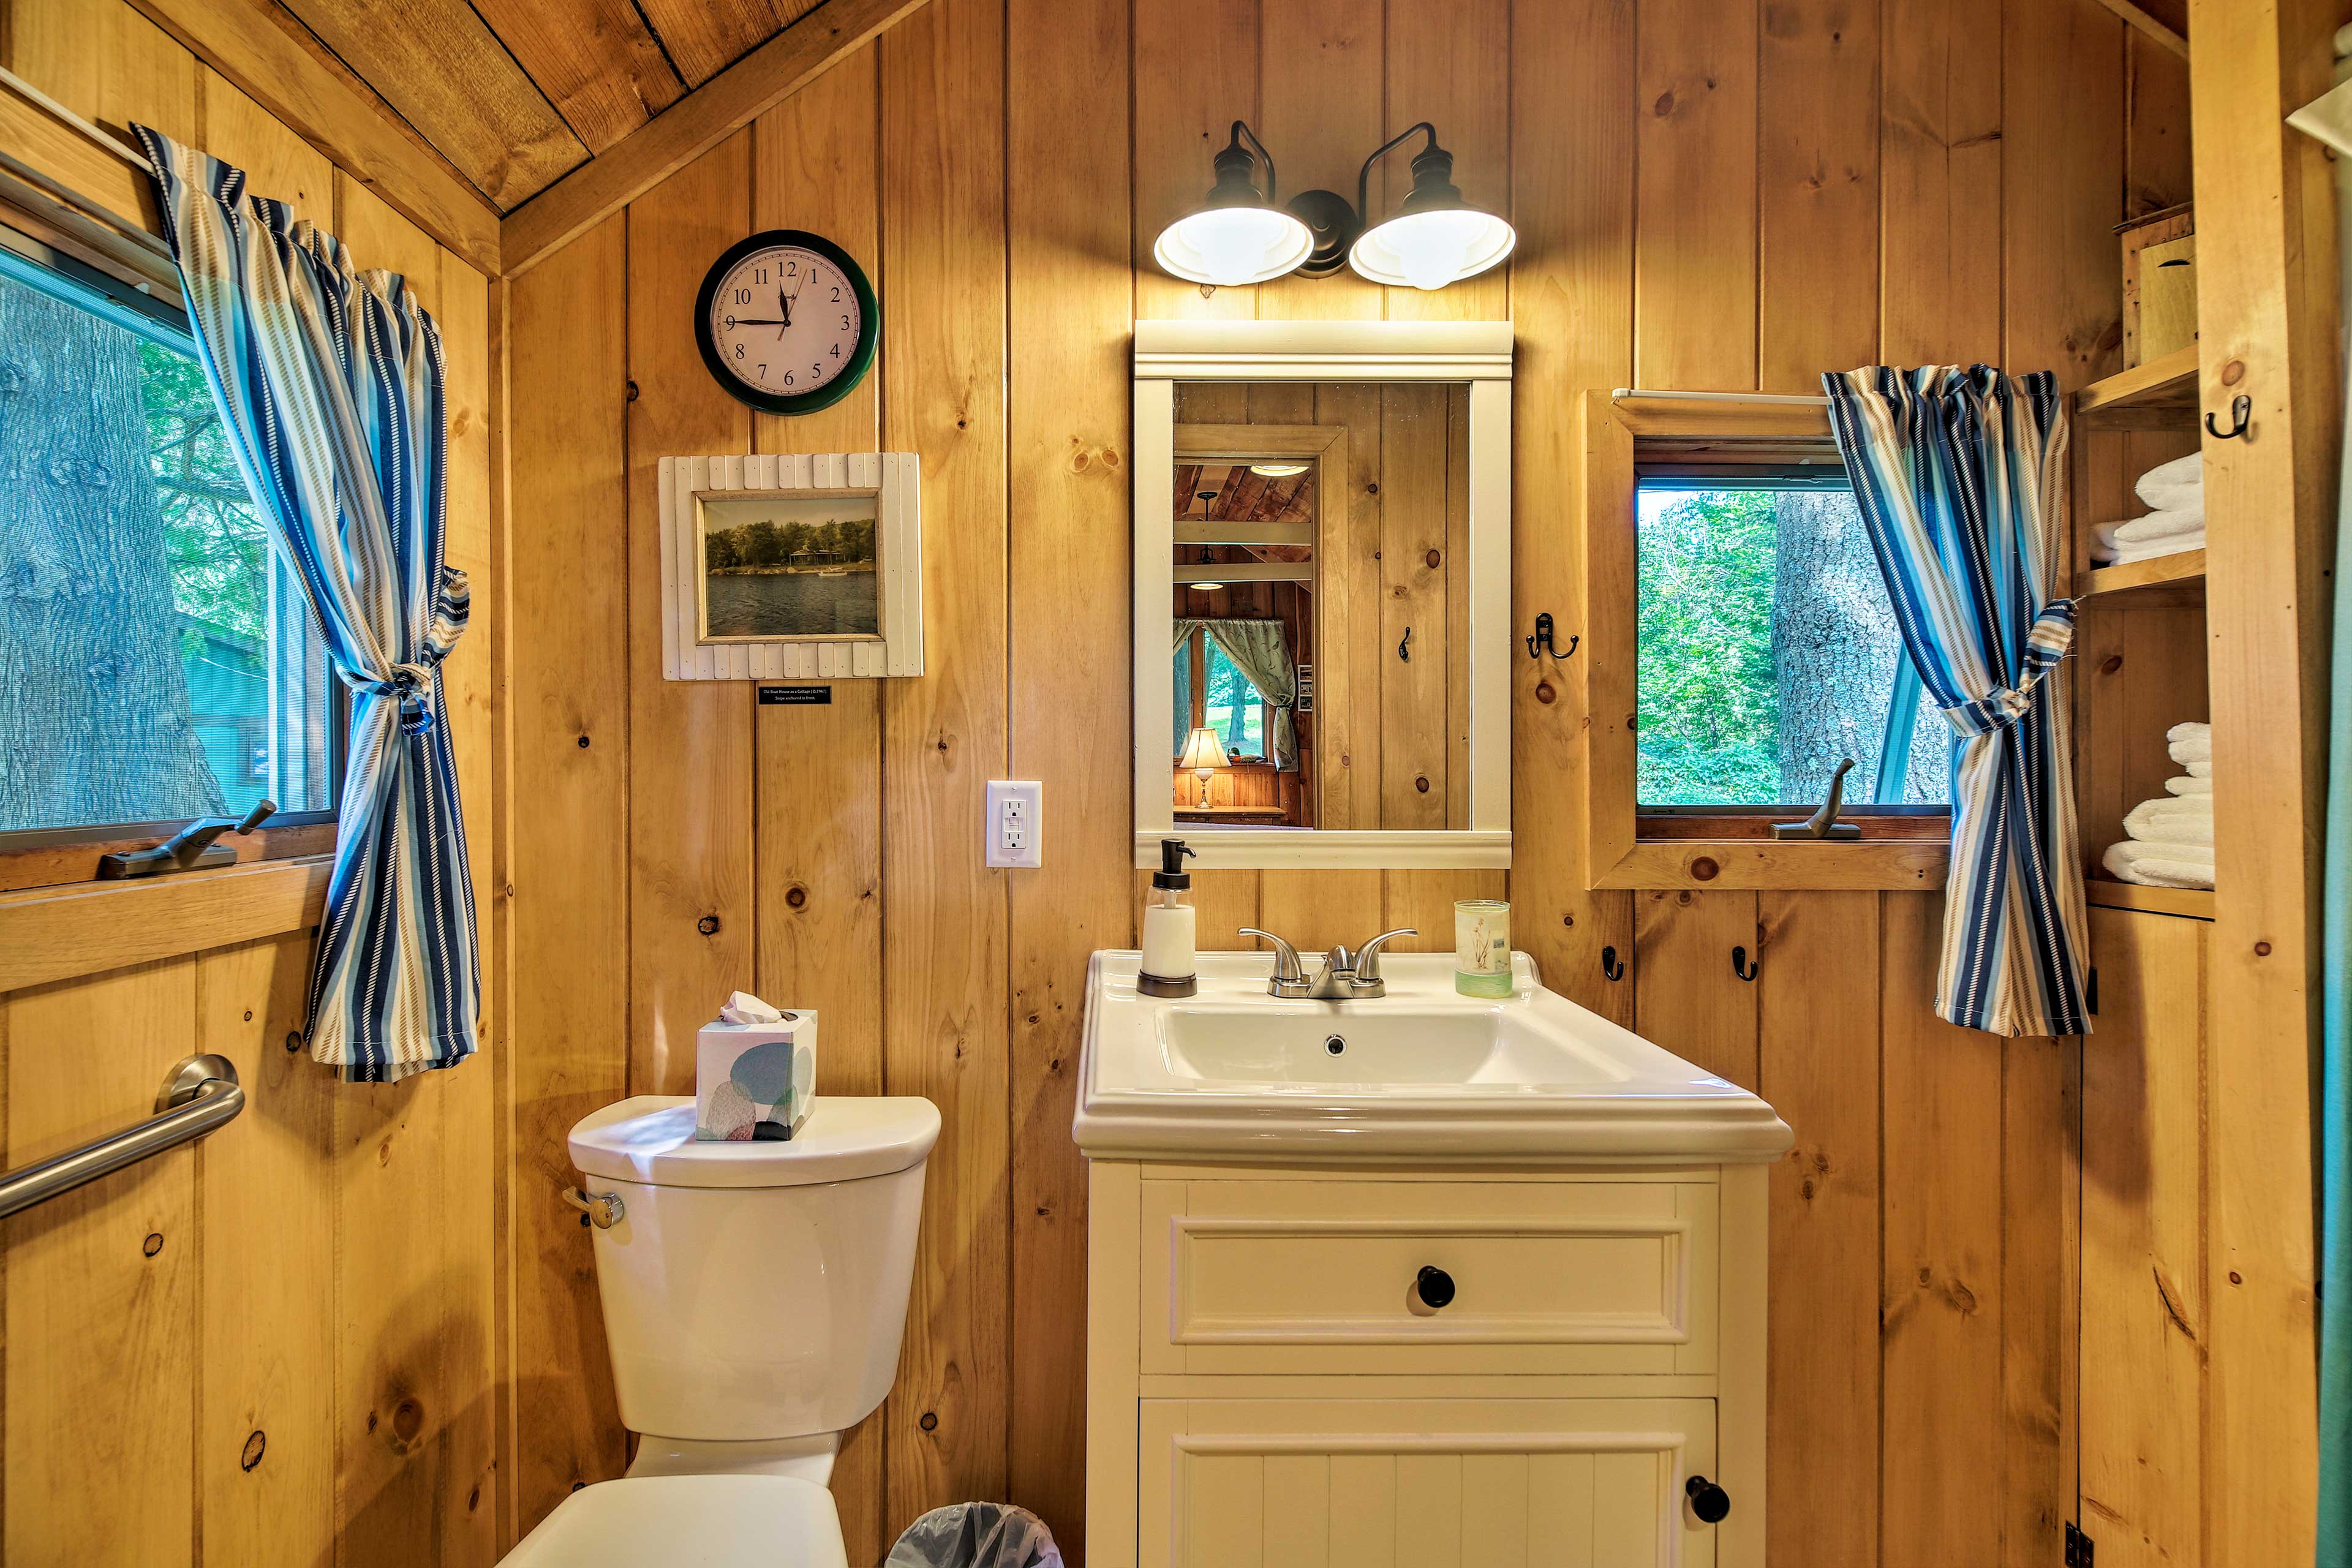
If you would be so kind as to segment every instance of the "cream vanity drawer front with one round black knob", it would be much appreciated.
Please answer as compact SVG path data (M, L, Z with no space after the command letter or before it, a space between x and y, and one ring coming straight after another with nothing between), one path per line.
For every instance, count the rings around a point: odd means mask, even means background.
M1145 1180L1141 1213L1145 1373L1715 1371L1712 1182Z

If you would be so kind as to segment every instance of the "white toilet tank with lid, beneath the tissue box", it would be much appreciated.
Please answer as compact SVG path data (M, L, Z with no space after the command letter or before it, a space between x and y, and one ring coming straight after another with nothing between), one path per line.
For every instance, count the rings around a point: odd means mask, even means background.
M630 1432L694 1441L854 1427L889 1394L938 1110L818 1098L790 1143L696 1143L694 1100L637 1095L572 1128L621 1218L595 1229L604 1345Z

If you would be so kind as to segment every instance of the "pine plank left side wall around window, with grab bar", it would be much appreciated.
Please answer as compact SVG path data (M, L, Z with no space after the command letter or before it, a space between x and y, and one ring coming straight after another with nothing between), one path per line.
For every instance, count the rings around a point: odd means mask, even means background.
M245 167L440 322L475 595L447 696L487 910L489 282L120 0L0 2L0 66ZM191 1051L249 1095L214 1138L0 1222L7 1563L496 1559L501 1060L346 1088L299 1048L308 966L289 933L0 997L9 1166L139 1119Z

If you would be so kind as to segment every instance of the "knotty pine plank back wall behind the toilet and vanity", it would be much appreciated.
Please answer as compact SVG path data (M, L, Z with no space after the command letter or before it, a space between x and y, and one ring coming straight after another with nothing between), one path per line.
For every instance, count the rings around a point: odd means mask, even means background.
M510 1528L623 1462L588 1244L550 1197L562 1128L623 1086L684 1091L691 1025L755 983L826 1013L828 1088L946 1112L898 1389L835 1483L851 1561L924 1507L1002 1495L1075 1556L1070 1084L1087 954L1129 943L1136 907L1131 320L1510 315L1515 632L1552 611L1566 637L1588 388L2114 369L2110 226L2185 195L2178 71L2096 0L931 0L515 280ZM1442 294L1202 296L1148 252L1235 115L1291 190L1352 188L1369 146L1435 118L1519 254ZM1404 169L1383 181L1399 195ZM875 376L802 423L727 402L687 331L708 261L774 223L844 240L887 317ZM654 461L875 442L924 461L929 675L767 710L663 684L630 611L659 590ZM1585 663L1512 682L1519 945L1799 1133L1773 1182L1773 1563L2056 1561L2079 1053L1931 1016L1936 898L1585 891ZM1040 872L981 865L995 776L1047 785ZM1204 945L1376 922L1444 945L1446 903L1501 889L1218 872L1197 903ZM1752 985L1733 943L1762 954Z

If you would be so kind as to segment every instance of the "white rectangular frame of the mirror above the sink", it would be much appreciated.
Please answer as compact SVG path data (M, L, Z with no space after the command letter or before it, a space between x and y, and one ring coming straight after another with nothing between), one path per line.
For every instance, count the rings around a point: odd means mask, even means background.
M1195 867L1454 870L1510 865L1510 322L1136 322L1136 865L1183 837ZM1470 383L1470 827L1176 832L1167 736L1176 722L1178 381ZM1185 827L1192 827L1185 823Z

